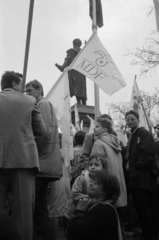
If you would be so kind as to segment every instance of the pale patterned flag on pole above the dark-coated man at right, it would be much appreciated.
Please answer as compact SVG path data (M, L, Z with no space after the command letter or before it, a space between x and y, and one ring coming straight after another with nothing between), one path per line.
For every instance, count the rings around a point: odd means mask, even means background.
M139 91L136 79L134 79L134 85L133 85L133 89L132 89L132 95L131 95L129 109L130 110L133 109L139 114L139 118L140 118L139 126L145 127L147 130L149 130L146 116L142 109L141 103L143 103L143 99L142 99L141 93Z

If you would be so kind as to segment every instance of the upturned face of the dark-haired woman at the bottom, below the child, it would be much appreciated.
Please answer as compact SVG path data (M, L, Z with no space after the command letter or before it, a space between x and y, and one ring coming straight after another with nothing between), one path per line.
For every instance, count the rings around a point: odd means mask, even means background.
M88 192L91 198L102 200L105 198L105 194L103 192L103 185L99 184L95 180L92 180L92 182L90 182Z

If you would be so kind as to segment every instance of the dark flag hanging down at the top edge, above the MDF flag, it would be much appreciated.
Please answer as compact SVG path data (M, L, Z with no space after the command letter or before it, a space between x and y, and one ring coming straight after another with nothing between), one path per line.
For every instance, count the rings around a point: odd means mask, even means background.
M91 19L93 18L93 0L89 0L89 15ZM102 4L101 0L96 0L96 19L97 26L103 26L103 12L102 12Z

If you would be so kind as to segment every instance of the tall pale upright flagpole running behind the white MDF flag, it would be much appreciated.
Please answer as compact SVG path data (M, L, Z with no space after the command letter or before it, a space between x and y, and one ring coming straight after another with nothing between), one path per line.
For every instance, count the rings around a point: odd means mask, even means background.
M93 18L92 18L92 31L97 32L97 17L96 17L96 0L93 0ZM100 115L99 108L99 87L94 83L94 102L95 102L95 119Z

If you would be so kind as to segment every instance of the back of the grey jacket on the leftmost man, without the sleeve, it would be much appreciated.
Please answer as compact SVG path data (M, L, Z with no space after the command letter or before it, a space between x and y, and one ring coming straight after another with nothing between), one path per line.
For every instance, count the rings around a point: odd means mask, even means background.
M0 142L3 150L1 151L3 154L1 167L39 168L38 153L31 126L34 98L6 89L0 93L0 102Z

